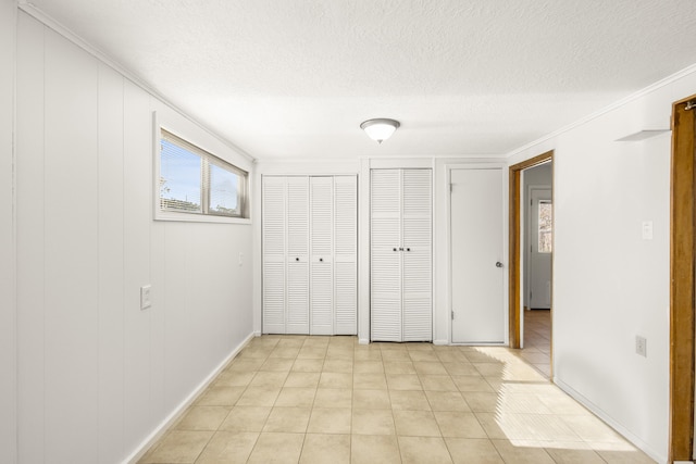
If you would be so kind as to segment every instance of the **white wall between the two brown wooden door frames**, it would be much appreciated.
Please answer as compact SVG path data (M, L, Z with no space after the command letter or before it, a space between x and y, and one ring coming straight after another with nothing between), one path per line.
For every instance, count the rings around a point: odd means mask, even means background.
M515 153L555 149L554 373L580 399L659 462L669 437L670 135L672 102L696 89L691 74ZM642 239L642 222L654 239ZM635 336L647 338L647 358Z

